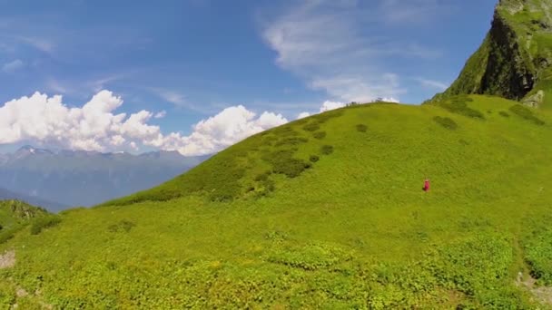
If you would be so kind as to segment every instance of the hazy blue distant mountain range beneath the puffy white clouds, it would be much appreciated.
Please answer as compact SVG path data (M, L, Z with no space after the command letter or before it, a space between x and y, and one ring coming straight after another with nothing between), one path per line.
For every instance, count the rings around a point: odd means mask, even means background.
M25 146L0 154L0 189L5 189L0 199L23 199L50 210L89 207L151 188L207 158L177 151L133 155Z

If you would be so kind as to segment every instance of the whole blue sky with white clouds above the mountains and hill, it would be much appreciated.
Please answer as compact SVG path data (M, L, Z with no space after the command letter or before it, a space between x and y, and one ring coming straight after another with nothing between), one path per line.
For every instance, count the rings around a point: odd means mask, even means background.
M13 137L0 144L4 150L57 143L193 155L301 112L318 112L323 102L385 97L419 103L454 81L487 33L494 5L491 0L0 0L0 109L34 92L62 95L61 105L81 108L108 90L123 101L113 103L110 115L128 118L148 111L138 123L158 126L163 134L163 141L153 142L158 132L141 127L149 132L144 138L138 128L129 133L128 125L95 136L82 130L80 138L60 137L51 124L59 117L67 131L74 124L68 112L53 113L39 129L15 128L17 120L5 109L0 132ZM27 112L13 105L12 118L14 111ZM226 118L242 122L213 118L226 108L231 109ZM259 121L264 111L273 115ZM202 120L207 121L202 128L192 127ZM107 121L86 128L99 123ZM196 131L201 135L191 139ZM172 132L180 136L169 140ZM124 141L108 143L104 135L121 135ZM185 149L192 140L201 145Z

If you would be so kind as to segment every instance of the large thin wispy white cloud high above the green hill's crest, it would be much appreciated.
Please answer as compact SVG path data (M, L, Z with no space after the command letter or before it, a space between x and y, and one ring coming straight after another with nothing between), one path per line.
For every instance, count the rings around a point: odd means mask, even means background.
M277 53L278 65L334 99L399 98L406 90L399 85L399 75L385 68L386 61L440 54L409 39L381 34L388 15L394 14L393 21L414 21L441 6L437 0L414 1L416 5L405 0L300 2L275 18L263 18L262 37ZM408 9L400 9L400 4Z

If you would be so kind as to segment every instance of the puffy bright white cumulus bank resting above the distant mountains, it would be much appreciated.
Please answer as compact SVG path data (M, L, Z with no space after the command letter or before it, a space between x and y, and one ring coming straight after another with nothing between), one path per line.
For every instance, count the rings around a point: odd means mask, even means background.
M35 92L0 106L0 144L30 140L99 151L153 146L192 156L222 150L251 134L287 122L281 114L265 111L257 117L239 105L198 122L189 136L177 132L163 135L159 126L148 123L162 116L163 111L116 113L122 104L122 98L109 91L98 92L83 107L68 107L60 95L48 97Z

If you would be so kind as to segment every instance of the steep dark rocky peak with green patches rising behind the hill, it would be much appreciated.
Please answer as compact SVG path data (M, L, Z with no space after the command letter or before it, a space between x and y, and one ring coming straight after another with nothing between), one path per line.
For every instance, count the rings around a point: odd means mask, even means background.
M500 0L483 44L434 99L491 94L528 105L552 94L552 0Z

